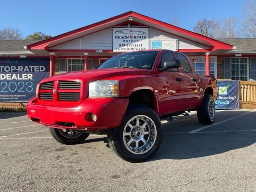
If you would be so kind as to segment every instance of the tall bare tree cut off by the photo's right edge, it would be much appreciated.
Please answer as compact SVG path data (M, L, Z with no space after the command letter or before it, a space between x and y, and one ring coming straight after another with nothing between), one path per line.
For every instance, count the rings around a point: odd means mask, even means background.
M242 34L245 38L256 38L256 0L246 2L243 13Z

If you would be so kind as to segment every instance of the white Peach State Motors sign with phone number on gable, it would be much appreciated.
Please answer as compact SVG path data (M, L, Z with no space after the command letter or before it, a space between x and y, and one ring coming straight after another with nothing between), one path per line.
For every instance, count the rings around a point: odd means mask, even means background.
M112 28L113 52L130 52L149 49L148 27Z

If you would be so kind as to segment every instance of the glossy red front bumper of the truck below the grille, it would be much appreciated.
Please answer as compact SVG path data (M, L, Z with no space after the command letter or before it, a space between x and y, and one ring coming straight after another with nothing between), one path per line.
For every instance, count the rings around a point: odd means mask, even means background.
M128 98L88 98L76 107L40 105L37 98L32 98L27 111L28 118L44 126L103 130L119 126L127 106ZM96 115L96 121L92 120L92 114Z

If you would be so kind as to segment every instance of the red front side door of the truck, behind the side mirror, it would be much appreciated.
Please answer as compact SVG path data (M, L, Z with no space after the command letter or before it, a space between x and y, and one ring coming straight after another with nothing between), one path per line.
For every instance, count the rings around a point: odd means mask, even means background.
M160 60L159 68L166 60L175 59L172 52L164 52ZM164 81L166 92L159 93L159 114L177 112L184 108L186 102L182 73L179 68L159 71L158 76Z

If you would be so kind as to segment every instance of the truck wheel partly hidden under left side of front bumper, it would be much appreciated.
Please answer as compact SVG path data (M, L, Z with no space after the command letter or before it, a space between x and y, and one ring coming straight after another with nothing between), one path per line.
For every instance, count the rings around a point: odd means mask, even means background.
M79 144L83 142L90 134L78 132L70 129L56 129L49 127L52 137L65 145Z

